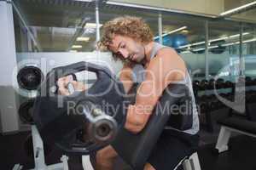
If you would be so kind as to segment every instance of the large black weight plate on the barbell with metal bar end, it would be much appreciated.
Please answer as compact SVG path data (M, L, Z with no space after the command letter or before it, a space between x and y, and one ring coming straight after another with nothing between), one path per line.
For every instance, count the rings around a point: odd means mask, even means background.
M56 94L57 80L79 71L95 72L94 85L69 96ZM33 115L38 132L44 141L55 143L67 152L89 154L91 150L99 150L114 139L125 122L125 90L107 67L86 62L57 67L49 72L38 92ZM86 129L89 141L76 141L80 129Z

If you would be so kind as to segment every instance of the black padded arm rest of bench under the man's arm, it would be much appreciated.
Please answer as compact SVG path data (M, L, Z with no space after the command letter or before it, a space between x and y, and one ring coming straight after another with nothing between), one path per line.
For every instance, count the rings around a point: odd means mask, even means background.
M175 95L170 97L168 90ZM179 94L184 95L182 97L177 97L180 96ZM192 126L192 124L189 124L192 118L189 117L189 115L192 116L190 111L187 112L188 114L184 114L185 116L183 115L180 117L180 120L177 119L177 121L174 121L173 119L173 117L177 115L175 111L162 112L161 107L166 101L169 101L168 105L170 106L189 102L189 89L183 84L170 84L161 96L160 102L155 106L153 114L143 131L141 133L133 134L125 130L125 128L122 128L118 133L117 138L112 143L113 148L118 152L119 156L121 156L121 158L133 169L143 169L148 160L148 156L150 155L150 151L153 149L154 144L156 144L157 139L160 137L160 133L167 122L169 125L172 124L172 127L177 127L175 123L177 124L177 122L179 122L179 126L183 125L181 126L183 129L188 129ZM126 141L129 141L129 143L127 144ZM126 147L124 147L123 144L125 144Z

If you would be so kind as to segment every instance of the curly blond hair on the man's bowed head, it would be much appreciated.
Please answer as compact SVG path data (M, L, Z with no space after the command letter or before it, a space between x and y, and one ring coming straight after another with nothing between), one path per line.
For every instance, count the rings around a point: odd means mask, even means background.
M131 37L142 43L151 42L154 38L153 32L142 18L122 16L104 24L102 38L100 42L97 42L97 48L110 50L109 46L112 44L114 35ZM113 54L113 57L114 59L120 59L116 54Z

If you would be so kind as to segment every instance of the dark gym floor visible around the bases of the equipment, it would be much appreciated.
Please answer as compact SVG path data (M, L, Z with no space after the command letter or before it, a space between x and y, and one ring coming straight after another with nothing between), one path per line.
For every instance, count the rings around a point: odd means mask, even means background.
M28 134L28 132L24 132L5 136L0 135L1 170L12 169L16 163L24 165L24 169L34 167L32 157L28 157L23 149L23 144ZM244 135L232 137L230 139L230 150L218 155L212 151L216 137L217 135L214 133L211 135L201 130L201 146L198 155L202 170L256 169L256 139ZM59 162L62 154L61 150L54 148L48 156L45 156L46 164ZM69 169L82 170L80 160L80 156L69 156Z

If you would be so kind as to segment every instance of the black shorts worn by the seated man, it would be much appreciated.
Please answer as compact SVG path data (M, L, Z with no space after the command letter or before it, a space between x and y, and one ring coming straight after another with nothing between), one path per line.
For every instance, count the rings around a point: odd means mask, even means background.
M186 156L195 152L198 144L198 134L164 130L148 158L148 163L156 170L173 170Z

